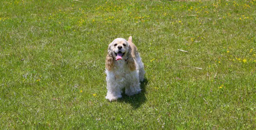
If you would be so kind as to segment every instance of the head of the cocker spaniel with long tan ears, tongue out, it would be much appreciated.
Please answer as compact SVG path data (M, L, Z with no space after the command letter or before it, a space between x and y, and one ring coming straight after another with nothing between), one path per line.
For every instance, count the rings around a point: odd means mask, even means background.
M124 38L116 38L108 45L106 56L106 68L111 70L114 67L114 60L126 60L131 70L135 70L134 59L131 56L131 46Z

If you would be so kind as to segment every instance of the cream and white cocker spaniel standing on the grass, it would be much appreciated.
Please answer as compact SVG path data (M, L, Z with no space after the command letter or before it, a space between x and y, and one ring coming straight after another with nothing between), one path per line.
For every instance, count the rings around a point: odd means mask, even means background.
M137 47L132 43L132 36L128 41L116 38L108 45L105 67L106 99L113 101L121 98L123 88L128 96L140 93L140 81L144 80L145 71Z

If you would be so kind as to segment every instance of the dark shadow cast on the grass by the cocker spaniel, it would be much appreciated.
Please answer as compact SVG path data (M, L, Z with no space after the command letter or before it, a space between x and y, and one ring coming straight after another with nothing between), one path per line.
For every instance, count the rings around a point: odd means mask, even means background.
M125 92L123 92L122 98L118 99L118 102L130 103L133 109L139 108L145 101L147 101L145 96L147 84L148 80L145 78L144 81L141 82L141 92L139 94L127 96L125 95Z

